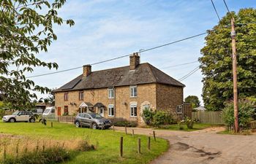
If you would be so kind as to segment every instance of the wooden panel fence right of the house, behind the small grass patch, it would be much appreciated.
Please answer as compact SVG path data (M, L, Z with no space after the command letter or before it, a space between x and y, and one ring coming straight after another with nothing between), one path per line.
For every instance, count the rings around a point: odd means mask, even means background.
M224 124L222 112L192 112L192 119L199 120L202 123Z

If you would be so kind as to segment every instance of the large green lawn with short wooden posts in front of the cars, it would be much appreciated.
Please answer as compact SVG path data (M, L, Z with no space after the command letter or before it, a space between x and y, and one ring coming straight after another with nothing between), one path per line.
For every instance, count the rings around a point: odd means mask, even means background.
M75 140L77 138L88 138L91 144L97 145L97 149L89 152L79 152L78 155L66 162L74 163L148 163L154 158L167 151L168 142L158 138L157 142L151 139L151 150L147 149L147 136L125 135L113 132L113 130L91 130L89 128L75 128L75 125L53 122L53 128L41 123L27 122L0 122L0 134L12 134L28 136L29 138L48 140ZM136 133L136 131L135 131ZM119 157L120 137L124 137L124 156ZM141 155L137 153L138 138L141 138Z

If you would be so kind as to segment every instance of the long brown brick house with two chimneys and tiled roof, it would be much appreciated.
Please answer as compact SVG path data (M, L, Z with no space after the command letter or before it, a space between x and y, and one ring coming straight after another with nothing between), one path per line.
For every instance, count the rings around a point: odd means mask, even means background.
M83 74L55 91L56 114L97 112L140 124L143 109L185 113L185 85L149 63L140 63L138 53L129 59L129 66L102 71L83 66Z

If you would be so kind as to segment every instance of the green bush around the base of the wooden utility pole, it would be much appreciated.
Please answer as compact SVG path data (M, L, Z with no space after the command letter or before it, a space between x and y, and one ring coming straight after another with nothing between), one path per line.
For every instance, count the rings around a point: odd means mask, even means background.
M241 128L248 128L253 114L254 106L252 101L244 99L238 102L238 124ZM233 127L235 121L233 101L225 103L225 108L222 111L222 119L229 127Z

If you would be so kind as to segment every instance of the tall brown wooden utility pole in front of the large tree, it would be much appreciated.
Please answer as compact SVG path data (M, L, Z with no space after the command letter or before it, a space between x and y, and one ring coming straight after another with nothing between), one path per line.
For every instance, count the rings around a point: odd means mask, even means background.
M232 39L232 58L233 58L233 102L235 117L235 132L238 133L238 86L237 86L237 60L236 60L236 31L235 20L231 17L231 39Z

